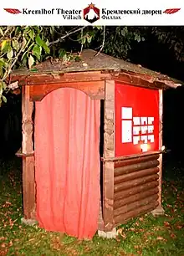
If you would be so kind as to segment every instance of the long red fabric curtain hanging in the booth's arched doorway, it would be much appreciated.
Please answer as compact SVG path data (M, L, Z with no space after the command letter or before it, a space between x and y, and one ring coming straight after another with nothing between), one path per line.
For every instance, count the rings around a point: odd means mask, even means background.
M35 113L37 218L41 228L92 238L100 206L100 100L54 90Z

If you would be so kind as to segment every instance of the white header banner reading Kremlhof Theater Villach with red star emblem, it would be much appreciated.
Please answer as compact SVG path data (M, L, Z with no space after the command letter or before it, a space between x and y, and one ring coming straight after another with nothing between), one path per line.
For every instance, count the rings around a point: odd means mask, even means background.
M184 25L178 1L3 1L0 25L159 26Z

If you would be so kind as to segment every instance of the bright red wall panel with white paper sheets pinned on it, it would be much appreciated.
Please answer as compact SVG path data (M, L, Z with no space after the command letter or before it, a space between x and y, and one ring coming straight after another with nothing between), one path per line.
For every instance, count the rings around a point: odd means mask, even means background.
M115 156L140 154L144 149L159 150L159 91L117 83Z

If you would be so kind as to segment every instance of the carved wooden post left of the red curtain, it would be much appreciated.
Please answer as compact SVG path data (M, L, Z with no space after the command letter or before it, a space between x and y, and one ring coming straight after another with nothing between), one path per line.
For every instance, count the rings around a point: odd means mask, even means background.
M35 218L35 184L33 156L33 102L29 101L29 87L23 86L23 214L25 219Z

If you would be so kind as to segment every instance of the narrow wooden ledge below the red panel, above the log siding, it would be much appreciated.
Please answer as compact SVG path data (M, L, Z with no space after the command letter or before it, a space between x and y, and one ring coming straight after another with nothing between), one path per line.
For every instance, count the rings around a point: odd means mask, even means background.
M145 157L145 156L159 155L159 154L163 154L163 153L165 153L165 151L151 151L151 152L130 155L130 156L115 156L115 157L108 157L108 158L101 157L101 161L105 161L105 162L124 161L124 160L129 160L129 159Z

